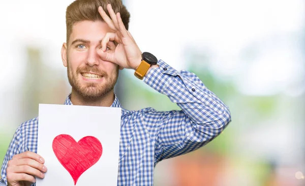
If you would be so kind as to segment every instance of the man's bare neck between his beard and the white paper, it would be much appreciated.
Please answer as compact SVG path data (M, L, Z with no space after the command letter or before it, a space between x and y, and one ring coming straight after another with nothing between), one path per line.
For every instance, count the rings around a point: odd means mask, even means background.
M74 89L72 89L70 100L73 105L110 107L114 101L114 92L112 90L102 97L98 97L96 99L89 99L82 97Z

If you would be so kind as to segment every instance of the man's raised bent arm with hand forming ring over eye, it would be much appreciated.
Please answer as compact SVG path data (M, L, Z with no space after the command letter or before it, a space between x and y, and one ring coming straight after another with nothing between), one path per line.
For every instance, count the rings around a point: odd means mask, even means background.
M99 50L102 60L117 64L120 69L136 70L141 63L141 50L126 30L119 13L107 6L110 17L99 8L100 15L111 32L103 38ZM116 41L114 52L105 50L109 41ZM156 139L156 160L192 151L208 143L231 121L226 105L210 92L200 79L187 71L176 71L163 61L159 68L150 68L144 81L179 105L182 111L146 113L147 131ZM155 112L155 111L151 111ZM152 129L152 130L151 130Z

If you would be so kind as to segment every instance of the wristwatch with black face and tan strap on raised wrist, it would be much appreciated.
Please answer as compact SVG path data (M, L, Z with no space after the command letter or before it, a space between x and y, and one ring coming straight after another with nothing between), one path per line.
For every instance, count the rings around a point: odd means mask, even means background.
M135 76L139 79L143 79L147 70L153 66L157 65L158 59L150 54L149 52L143 52L142 53L142 61L141 64L138 66L138 68L135 71Z

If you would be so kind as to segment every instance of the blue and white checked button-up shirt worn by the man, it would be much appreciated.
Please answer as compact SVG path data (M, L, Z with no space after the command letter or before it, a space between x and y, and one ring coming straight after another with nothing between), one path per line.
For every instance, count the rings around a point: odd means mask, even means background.
M191 72L177 71L162 60L143 81L177 103L180 111L122 108L117 185L154 185L154 168L162 160L196 150L217 137L231 121L228 107ZM72 104L69 96L65 104ZM121 105L115 97L111 107ZM22 123L9 145L0 186L13 155L37 153L38 118ZM35 185L32 184L32 185Z

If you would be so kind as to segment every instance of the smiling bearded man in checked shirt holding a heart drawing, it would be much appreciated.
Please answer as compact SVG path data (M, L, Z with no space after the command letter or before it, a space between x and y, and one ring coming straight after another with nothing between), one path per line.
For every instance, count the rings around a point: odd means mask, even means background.
M67 8L62 60L72 92L65 104L121 107L113 88L124 68L134 69L136 77L177 103L181 111L122 108L117 185L153 185L158 162L210 142L231 116L194 73L177 71L142 52L128 31L129 16L120 0L77 0ZM17 128L0 185L35 185L36 177L44 177L45 160L37 154L38 124L34 118Z

